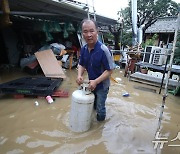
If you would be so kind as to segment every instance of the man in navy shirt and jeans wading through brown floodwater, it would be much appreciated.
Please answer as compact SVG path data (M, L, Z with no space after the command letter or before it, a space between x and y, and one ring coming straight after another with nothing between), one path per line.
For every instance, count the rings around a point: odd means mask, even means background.
M82 34L86 45L81 48L76 82L83 83L83 73L88 72L89 89L95 95L94 108L97 120L106 118L105 101L109 92L110 75L113 70L113 57L107 46L98 41L98 26L94 20L82 21Z

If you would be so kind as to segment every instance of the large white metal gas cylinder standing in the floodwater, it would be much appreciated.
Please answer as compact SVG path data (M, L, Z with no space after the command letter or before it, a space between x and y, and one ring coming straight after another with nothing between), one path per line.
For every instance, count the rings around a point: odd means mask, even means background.
M85 89L83 87L72 93L70 129L74 132L87 131L91 126L94 94Z

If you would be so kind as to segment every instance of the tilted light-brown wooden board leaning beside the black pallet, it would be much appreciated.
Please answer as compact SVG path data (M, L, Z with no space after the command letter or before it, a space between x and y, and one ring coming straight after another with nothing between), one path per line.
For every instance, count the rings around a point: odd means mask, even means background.
M66 78L62 67L59 65L54 53L51 49L36 52L35 56L46 77Z

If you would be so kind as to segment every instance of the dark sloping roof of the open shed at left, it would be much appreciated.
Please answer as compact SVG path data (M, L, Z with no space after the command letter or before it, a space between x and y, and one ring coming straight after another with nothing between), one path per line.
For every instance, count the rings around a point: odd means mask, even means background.
M61 0L9 0L11 15L21 15L47 20L78 21L87 18L82 7L61 2ZM117 21L96 15L98 24L113 25Z

